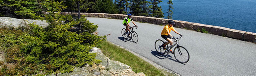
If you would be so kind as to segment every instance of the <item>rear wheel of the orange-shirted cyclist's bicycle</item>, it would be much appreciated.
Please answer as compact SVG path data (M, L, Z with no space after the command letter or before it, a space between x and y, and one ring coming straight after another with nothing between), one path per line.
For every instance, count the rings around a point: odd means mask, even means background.
M160 39L156 40L156 42L155 42L155 49L156 49L157 53L159 53L159 54L164 54L166 52L166 50L164 50L162 48L162 46L161 46L162 44L164 44L164 41L160 40Z

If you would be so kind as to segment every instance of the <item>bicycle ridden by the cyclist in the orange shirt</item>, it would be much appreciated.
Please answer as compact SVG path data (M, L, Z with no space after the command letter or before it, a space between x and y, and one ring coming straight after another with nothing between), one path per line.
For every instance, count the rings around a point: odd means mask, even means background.
M166 45L166 50L163 49L162 45L168 41L163 41L161 39L156 40L155 42L155 49L157 51L157 53L159 54L164 54L165 52L169 53L170 49L173 48L175 45L177 45L174 50L173 53L171 52L171 54L174 55L175 59L180 62L180 63L187 63L189 61L189 53L188 50L179 45L179 41L182 37L178 37L178 38L174 38L175 41L173 41L173 43L175 43L173 46L171 44Z

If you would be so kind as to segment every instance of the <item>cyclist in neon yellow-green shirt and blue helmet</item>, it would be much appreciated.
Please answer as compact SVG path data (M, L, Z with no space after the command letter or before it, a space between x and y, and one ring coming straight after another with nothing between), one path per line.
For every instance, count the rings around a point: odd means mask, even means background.
M123 25L126 27L126 31L125 31L125 33L126 34L129 34L129 32L130 32L130 29L129 29L129 27L131 27L130 25L129 25L129 23L130 23L130 21L132 21L132 23L138 28L138 26L133 22L133 20L132 20L132 14L127 14L128 15L128 17L125 17L124 18L124 21L123 21ZM127 32L128 31L128 32Z

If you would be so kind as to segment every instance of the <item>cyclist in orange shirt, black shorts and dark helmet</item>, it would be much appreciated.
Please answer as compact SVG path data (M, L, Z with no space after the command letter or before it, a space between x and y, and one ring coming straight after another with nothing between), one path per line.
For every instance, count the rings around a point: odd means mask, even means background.
M162 47L164 48L164 50L166 50L166 45L168 45L169 43L171 43L171 45L172 45L172 39L175 39L175 38L170 34L171 30L172 30L173 32L179 34L179 35L182 37L182 35L181 35L178 31L176 31L176 30L173 28L173 25L175 25L175 23L174 23L172 20L169 20L169 21L168 21L168 25L164 26L164 29L163 29L162 32L161 32L161 37L168 41L168 42L166 42L165 44L162 45ZM173 53L172 50L170 50L170 51L171 51L171 53Z

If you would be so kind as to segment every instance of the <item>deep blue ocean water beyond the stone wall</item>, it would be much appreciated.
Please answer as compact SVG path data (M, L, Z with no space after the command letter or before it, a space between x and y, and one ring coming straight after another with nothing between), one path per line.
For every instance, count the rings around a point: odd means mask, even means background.
M162 0L167 18L168 0ZM172 0L172 19L256 33L256 0Z

